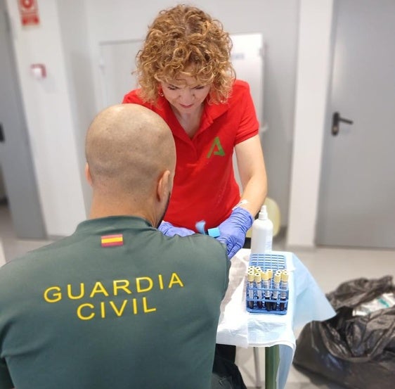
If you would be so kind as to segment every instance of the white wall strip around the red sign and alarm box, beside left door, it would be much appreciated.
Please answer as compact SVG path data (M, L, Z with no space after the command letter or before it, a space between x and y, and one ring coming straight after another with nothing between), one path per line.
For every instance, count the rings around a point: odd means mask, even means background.
M63 236L85 208L57 2L39 1L37 27L22 27L18 1L7 0L7 8L46 231ZM45 79L32 77L32 63L46 66Z

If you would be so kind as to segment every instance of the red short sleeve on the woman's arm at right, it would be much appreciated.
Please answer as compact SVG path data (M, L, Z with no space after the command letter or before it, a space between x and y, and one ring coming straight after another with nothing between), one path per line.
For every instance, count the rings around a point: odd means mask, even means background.
M254 102L250 93L250 86L247 82L242 82L240 88L240 98L238 98L237 105L242 108L242 116L238 133L236 134L235 144L240 144L242 141L252 138L259 132L259 121L257 113L255 112ZM233 109L237 109L234 107Z

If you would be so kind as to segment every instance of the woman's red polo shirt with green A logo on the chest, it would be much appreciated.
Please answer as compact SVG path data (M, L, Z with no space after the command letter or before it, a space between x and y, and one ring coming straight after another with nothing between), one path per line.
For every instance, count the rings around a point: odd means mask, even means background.
M176 143L176 175L164 220L195 230L205 220L206 228L218 227L240 200L233 174L233 148L258 134L259 122L246 82L236 80L225 104L205 103L200 127L192 139L174 115L169 102L144 103L138 90L124 96L123 103L141 104L160 115L171 128Z

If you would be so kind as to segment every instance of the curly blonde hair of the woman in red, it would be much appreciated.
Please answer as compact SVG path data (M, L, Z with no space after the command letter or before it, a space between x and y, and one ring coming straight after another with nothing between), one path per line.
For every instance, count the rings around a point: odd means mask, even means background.
M160 82L187 75L211 84L209 103L224 103L235 79L231 49L231 38L219 20L199 8L180 4L160 11L136 56L141 98L155 104Z

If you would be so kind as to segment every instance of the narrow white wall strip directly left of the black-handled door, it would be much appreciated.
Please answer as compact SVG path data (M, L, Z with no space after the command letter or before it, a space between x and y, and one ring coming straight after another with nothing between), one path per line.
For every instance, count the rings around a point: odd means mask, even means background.
M287 245L313 247L325 109L330 79L333 0L301 0L297 92Z

